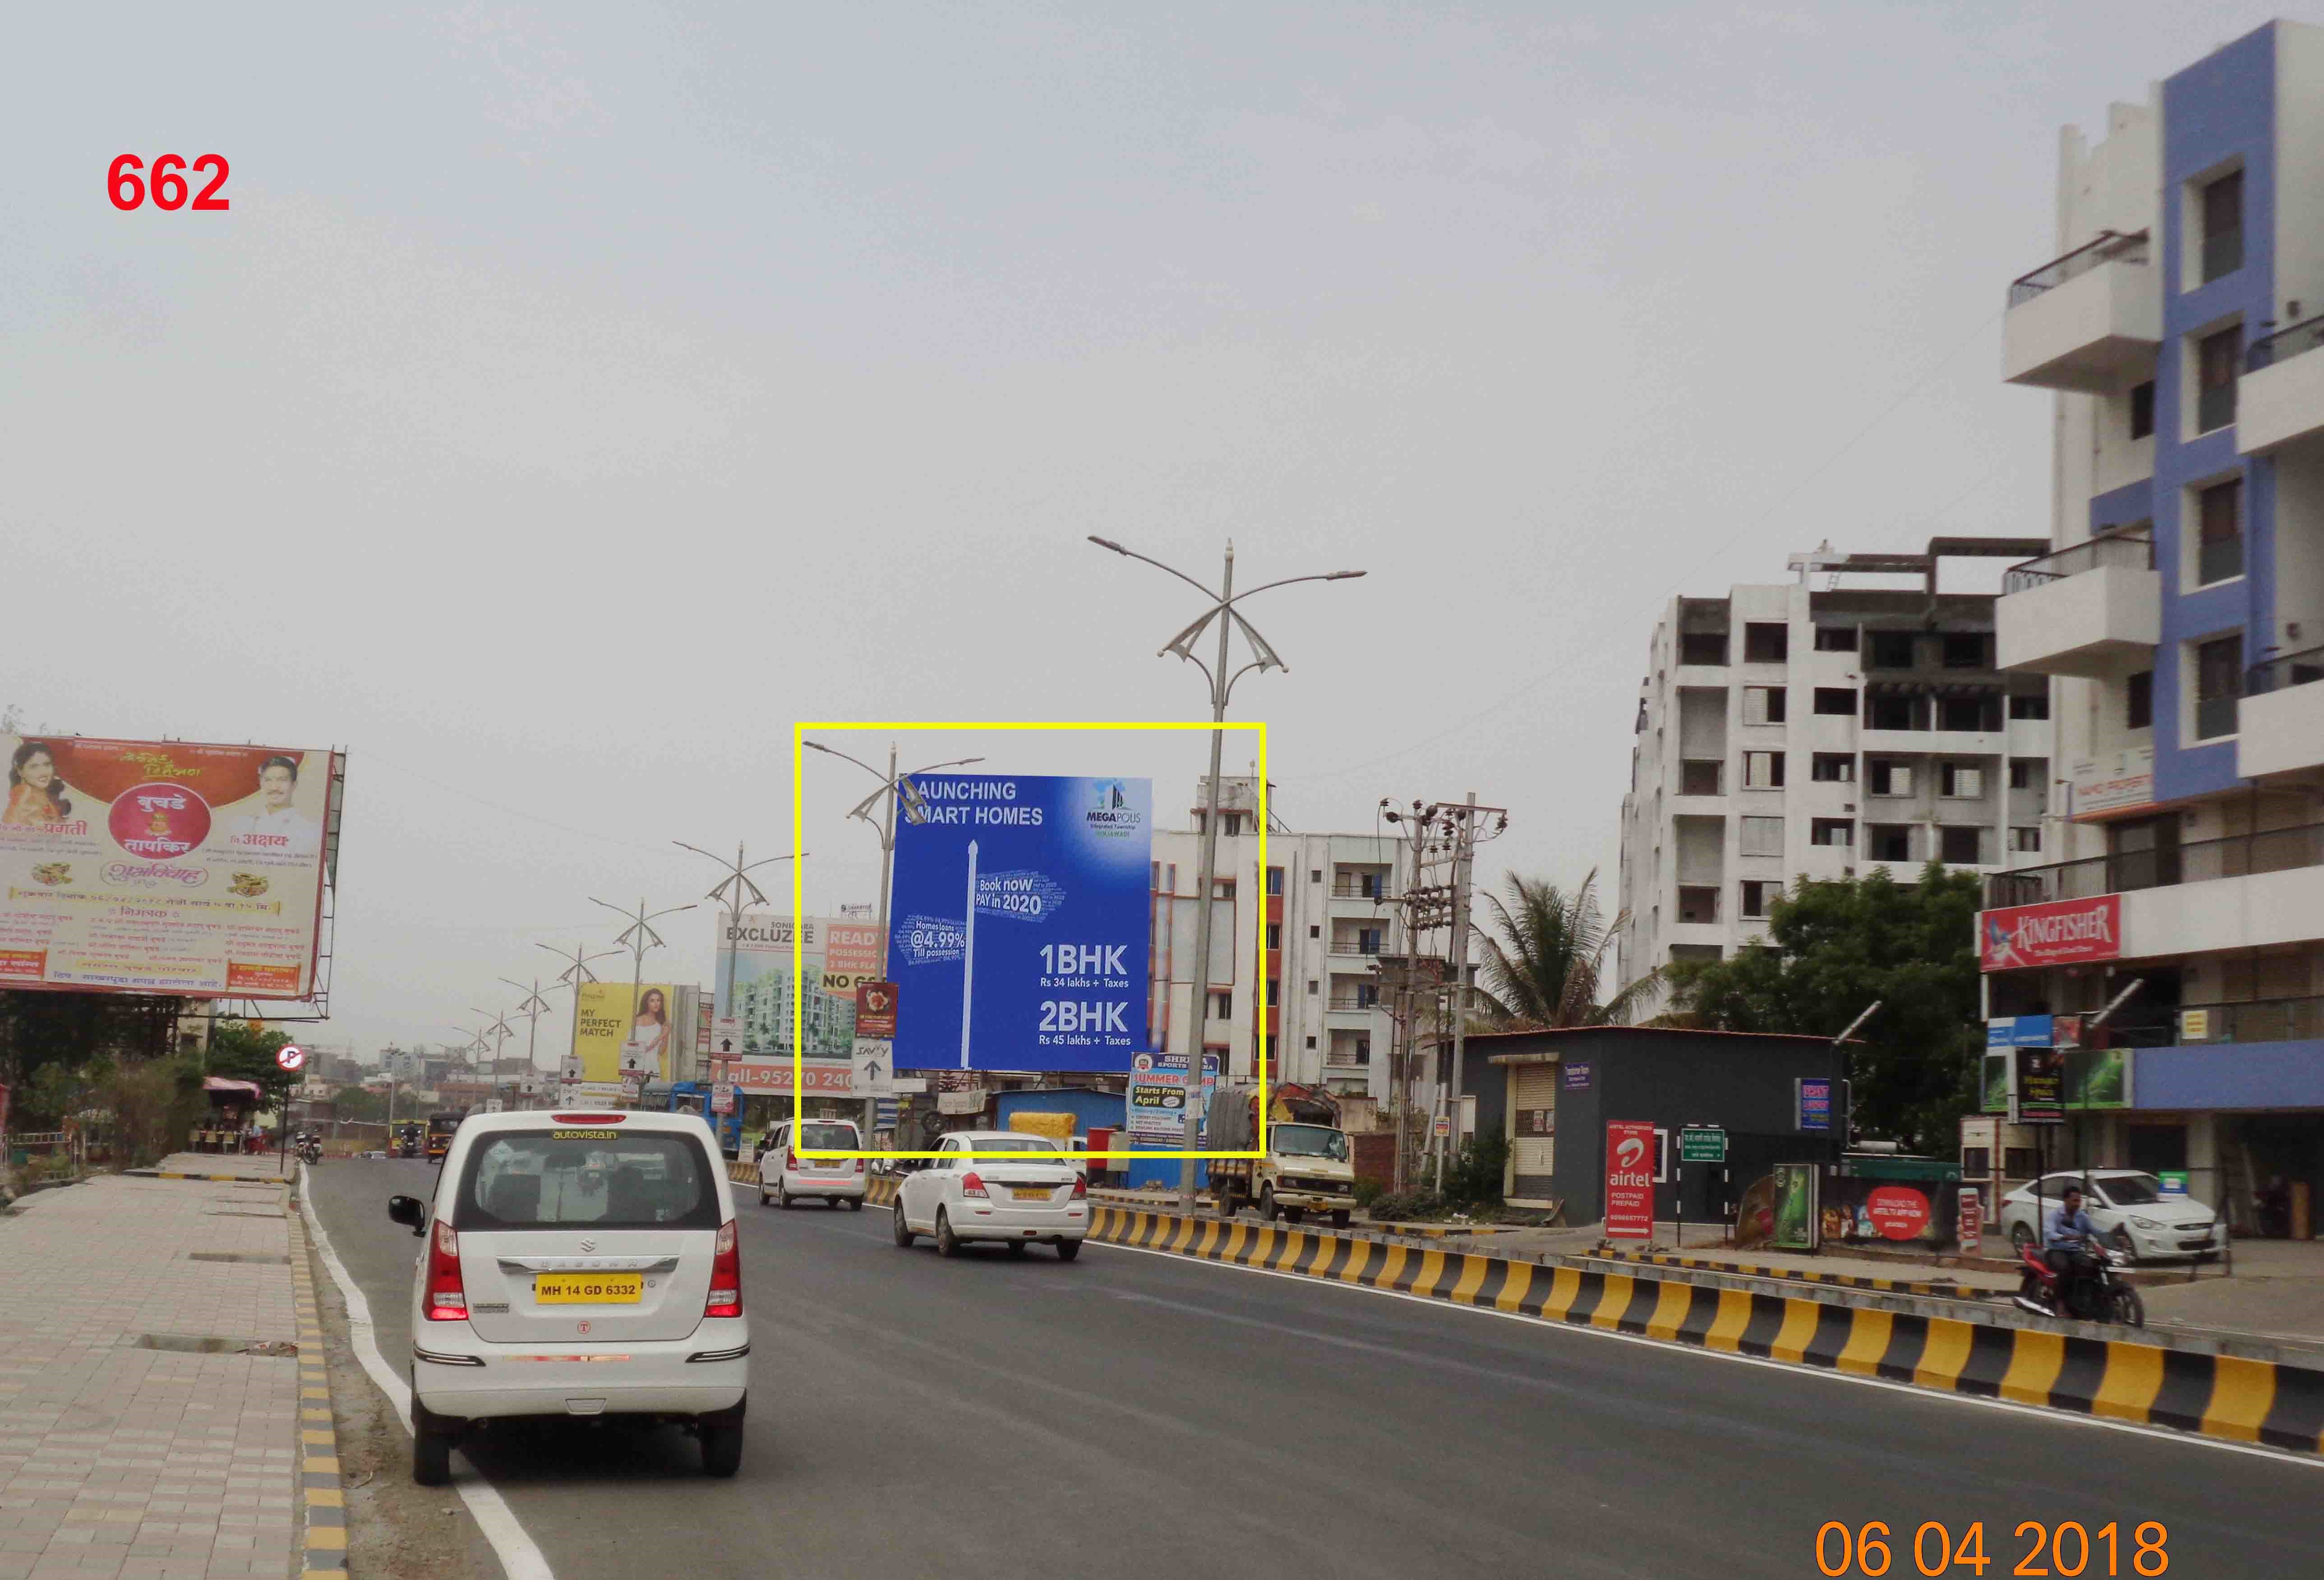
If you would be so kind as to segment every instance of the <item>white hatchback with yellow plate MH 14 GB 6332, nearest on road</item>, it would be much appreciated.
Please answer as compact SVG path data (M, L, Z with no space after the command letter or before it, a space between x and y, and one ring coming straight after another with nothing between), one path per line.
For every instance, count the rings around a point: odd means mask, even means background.
M411 1480L514 1415L641 1415L741 1466L751 1327L718 1143L690 1113L479 1113L435 1199L390 1197L425 1238L411 1283Z

